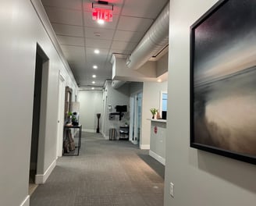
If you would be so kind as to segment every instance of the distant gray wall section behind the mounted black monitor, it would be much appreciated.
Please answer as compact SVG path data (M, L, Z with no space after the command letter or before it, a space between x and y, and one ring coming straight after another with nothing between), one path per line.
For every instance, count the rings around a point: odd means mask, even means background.
M105 92L103 94L104 99L106 101L106 105L112 105L112 110L109 111L108 108L106 109L105 114L103 115L104 118L104 125L102 134L106 139L109 137L109 128L116 128L116 130L119 130L119 126L123 126L124 123L129 122L130 120L130 89L129 84L124 84L123 86L119 87L118 89L114 89L111 85L111 81L107 81ZM127 112L125 112L125 115L119 121L119 115L115 116L114 120L108 120L108 114L110 112L116 112L116 105L127 105Z

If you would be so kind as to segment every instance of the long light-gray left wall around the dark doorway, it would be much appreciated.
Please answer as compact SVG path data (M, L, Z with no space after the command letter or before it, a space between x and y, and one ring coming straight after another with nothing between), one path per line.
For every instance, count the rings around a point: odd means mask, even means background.
M38 1L39 2L39 1ZM52 41L28 0L2 0L0 3L0 204L29 205L28 180L34 100L34 71L37 43L50 59L46 82L44 156L41 175L56 158L59 70L66 83L76 90ZM57 98L58 99L58 98Z

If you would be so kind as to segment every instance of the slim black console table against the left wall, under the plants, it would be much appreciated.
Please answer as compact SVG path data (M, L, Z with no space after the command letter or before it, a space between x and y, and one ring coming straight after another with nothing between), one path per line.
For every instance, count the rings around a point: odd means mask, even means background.
M69 130L70 129L79 130L78 141L77 141L77 144L75 142L75 150L74 151L65 152L65 141L66 140L69 141ZM66 133L66 135L63 136L62 155L63 156L78 156L79 151L80 151L80 147L81 147L82 125L65 125L64 126L64 133ZM75 137L74 137L74 140L75 140Z

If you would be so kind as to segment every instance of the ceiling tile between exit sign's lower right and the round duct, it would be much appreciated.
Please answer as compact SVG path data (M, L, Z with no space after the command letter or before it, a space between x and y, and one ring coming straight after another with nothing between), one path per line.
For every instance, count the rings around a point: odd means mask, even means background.
M121 16L119 20L118 30L130 30L146 32L153 23L151 19L142 19L131 16Z

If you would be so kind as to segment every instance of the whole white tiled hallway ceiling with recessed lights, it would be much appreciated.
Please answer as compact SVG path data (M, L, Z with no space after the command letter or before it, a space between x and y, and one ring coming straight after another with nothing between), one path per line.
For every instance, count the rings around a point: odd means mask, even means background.
M112 77L112 53L130 54L169 0L108 0L114 5L113 21L104 25L92 20L92 2L98 1L41 2L76 83L80 87L102 87ZM100 54L94 54L95 48ZM98 69L93 69L94 65Z

